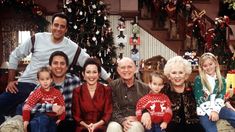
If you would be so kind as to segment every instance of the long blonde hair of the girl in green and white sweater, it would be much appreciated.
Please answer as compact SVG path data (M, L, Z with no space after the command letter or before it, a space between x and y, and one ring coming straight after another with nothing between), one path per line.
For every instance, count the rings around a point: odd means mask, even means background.
M201 83L203 86L205 86L209 91L211 91L211 86L206 78L206 73L205 71L203 70L203 63L207 60L207 59L211 59L217 66L215 68L215 72L216 72L216 77L219 81L219 90L218 91L221 91L222 90L222 76L221 76L221 73L220 73L220 67L219 67L219 63L218 63L218 60L216 58L216 56L212 53L204 53L200 58L199 58L199 75L201 77Z

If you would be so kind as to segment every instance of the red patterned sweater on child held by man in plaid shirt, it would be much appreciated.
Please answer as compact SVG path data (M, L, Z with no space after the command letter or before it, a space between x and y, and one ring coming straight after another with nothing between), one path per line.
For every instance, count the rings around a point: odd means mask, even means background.
M65 106L64 98L61 92L54 87L51 87L49 91L45 91L43 88L36 89L32 94L27 98L25 105L23 107L23 120L30 120L30 112L35 107L37 103L49 103ZM56 113L48 112L48 116L56 117ZM59 117L60 120L65 119L65 112L62 113Z

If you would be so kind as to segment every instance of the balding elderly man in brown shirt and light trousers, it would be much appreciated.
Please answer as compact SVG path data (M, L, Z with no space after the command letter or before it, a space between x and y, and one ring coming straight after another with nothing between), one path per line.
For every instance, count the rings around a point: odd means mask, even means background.
M149 89L147 85L135 79L136 66L130 58L124 57L118 61L117 72L120 78L110 83L113 115L107 132L144 132L144 127L137 120L135 111L137 101L147 94ZM145 127L150 120L148 119L142 117Z

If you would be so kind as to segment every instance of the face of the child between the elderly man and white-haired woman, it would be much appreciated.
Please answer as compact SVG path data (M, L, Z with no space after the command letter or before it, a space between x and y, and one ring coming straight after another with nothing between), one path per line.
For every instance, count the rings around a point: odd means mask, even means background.
M152 76L152 81L149 82L149 87L153 93L159 93L164 87L163 79L158 76Z

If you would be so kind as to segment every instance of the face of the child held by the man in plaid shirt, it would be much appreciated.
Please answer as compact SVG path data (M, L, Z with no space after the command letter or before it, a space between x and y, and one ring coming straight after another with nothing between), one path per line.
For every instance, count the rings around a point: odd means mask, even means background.
M50 89L52 78L49 72L42 71L39 73L38 82L41 84L41 87L48 91Z

